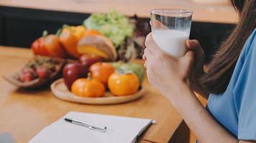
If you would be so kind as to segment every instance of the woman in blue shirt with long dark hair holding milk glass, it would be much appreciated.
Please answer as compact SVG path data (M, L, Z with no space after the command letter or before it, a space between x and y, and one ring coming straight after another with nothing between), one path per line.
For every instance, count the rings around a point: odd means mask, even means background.
M256 142L256 0L232 0L239 23L203 69L204 51L186 41L185 56L165 54L147 35L145 67L199 142ZM205 109L193 91L208 98Z

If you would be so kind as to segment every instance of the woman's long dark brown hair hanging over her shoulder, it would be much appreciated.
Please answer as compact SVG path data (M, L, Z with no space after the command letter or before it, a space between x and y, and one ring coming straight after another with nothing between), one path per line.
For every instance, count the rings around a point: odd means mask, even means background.
M256 26L256 0L230 0L239 14L237 26L221 44L201 77L201 85L209 93L221 94L227 89L234 66L245 41Z

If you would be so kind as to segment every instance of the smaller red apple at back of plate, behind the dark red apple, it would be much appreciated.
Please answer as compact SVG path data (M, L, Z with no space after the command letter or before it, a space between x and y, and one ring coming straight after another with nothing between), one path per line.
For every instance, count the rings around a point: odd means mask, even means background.
M96 62L104 61L104 58L96 54L83 54L82 56L80 56L79 61L89 68L92 64Z

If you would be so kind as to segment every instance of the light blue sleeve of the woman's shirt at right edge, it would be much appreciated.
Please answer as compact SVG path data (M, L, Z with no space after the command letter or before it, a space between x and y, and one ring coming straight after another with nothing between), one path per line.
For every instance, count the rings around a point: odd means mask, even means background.
M247 54L234 86L237 107L238 139L256 141L256 32L247 40Z

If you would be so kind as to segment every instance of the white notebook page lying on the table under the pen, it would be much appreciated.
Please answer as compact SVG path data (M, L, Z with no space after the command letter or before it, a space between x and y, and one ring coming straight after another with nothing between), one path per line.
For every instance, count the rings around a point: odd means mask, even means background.
M91 130L87 127L66 122L65 117L104 125L107 129L106 132ZM151 122L152 119L69 112L58 121L42 129L29 143L131 143L134 142L137 134Z

